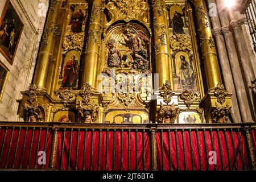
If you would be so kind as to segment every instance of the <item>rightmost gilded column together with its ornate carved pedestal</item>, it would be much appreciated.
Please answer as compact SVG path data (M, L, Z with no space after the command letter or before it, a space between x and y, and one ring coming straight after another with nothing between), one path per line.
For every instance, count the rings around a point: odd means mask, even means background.
M225 123L229 121L232 94L225 90L221 82L217 53L205 2L204 0L191 0L191 2L195 6L201 52L209 89L201 101L201 106L204 107L207 122Z

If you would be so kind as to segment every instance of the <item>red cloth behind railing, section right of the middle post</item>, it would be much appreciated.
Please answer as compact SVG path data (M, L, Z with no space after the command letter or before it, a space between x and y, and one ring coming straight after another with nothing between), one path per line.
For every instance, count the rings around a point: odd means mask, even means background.
M243 167L245 167L245 169L249 169L245 137L241 132L233 131L232 134L234 147L232 143L232 135L229 131L226 131L226 139L224 131L219 131L219 139L217 131L212 131L212 137L210 135L210 131L205 131L205 139L203 131L197 131L197 134L196 131L191 131L191 139L189 137L189 131L184 131L184 144L182 131L177 131L177 138L175 138L175 131L170 131L170 134L168 134L168 131L163 131L163 133L157 132L156 143L158 154L158 169L170 170L171 167L171 170L177 170L177 162L179 162L180 170L185 170L185 168L189 171L199 171L200 169L214 170L214 164L208 163L210 156L213 156L208 155L209 151L216 152L216 170L238 170L244 169ZM169 135L171 141L170 143L168 142ZM161 142L162 137L163 145ZM212 141L214 149L212 147Z

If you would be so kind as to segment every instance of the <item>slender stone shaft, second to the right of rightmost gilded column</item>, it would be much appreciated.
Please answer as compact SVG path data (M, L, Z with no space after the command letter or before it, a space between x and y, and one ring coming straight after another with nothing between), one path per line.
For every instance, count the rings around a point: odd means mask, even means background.
M218 7L218 17L221 23L221 33L225 39L226 50L228 52L229 64L233 75L234 86L236 88L238 106L240 108L240 114L242 122L251 122L251 114L249 112L250 105L248 102L245 85L243 83L243 76L240 68L240 63L236 51L236 46L234 44L234 39L232 32L229 31L229 20L225 11L222 11L221 4L216 1ZM222 51L223 49L221 49Z

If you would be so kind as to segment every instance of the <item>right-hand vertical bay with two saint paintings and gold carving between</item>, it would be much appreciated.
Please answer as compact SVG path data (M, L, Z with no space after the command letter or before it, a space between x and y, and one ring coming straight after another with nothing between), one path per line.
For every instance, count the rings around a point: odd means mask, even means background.
M171 48L172 77L174 90L182 92L202 91L199 80L201 73L199 68L199 57L193 41L195 35L191 35L191 17L188 16L187 7L183 3L168 4L168 18L170 20L169 42Z

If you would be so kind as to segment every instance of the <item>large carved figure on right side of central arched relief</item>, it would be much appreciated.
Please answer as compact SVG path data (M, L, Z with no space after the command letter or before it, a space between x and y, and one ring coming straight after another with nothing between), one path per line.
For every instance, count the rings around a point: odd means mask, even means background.
M133 68L142 70L148 69L149 61L145 47L150 42L150 40L142 31L138 31L137 33L131 28L127 28L125 33L127 36L122 36L125 39L127 46L132 51L131 56L134 60Z

